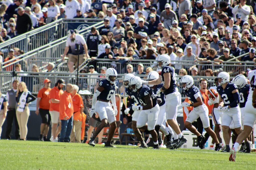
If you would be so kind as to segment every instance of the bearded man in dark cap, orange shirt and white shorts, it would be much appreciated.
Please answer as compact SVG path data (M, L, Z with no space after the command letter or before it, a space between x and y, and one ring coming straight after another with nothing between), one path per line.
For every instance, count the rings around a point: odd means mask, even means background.
M62 88L66 86L65 81L63 79L58 80L55 83L54 88L50 90L50 115L51 115L51 138L50 141L58 142L57 136L61 130L61 121L59 119L60 113L60 96L64 93ZM59 126L58 126L59 123ZM58 128L57 128L58 126ZM57 128L57 130L56 130Z

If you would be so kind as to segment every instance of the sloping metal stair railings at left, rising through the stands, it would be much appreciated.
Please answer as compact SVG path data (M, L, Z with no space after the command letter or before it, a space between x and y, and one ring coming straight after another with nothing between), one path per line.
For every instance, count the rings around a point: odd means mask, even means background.
M85 19L83 19L83 20L77 19L77 20L80 22L85 21ZM87 20L89 21L89 19L87 19ZM97 20L97 19L93 19L91 21L95 21L95 20ZM62 29L62 31L59 31L56 33L58 36L56 35L55 38L51 42L39 41L40 42L39 44L38 44L38 42L36 42L37 45L30 46L31 48L29 48L29 50L26 53L24 53L23 55L19 55L18 57L14 58L14 59L11 59L11 60L1 63L1 66L0 66L1 71L6 70L6 68L9 68L8 69L9 71L15 70L15 68L13 66L15 66L16 63L19 63L22 65L23 71L31 71L33 64L36 64L38 66L38 68L40 68L41 70L44 70L49 62L53 62L56 65L56 67L54 68L55 71L67 72L68 71L67 62L66 61L62 62L62 60L61 60L61 55L63 54L64 48L66 45L66 41L67 41L67 36L66 36L66 32L67 32L67 28L68 28L67 24L71 23L71 22L77 22L77 21L75 19L72 19L72 20L62 19L62 20L58 20L58 21L60 22L58 28ZM102 23L103 23L102 19L98 19L98 23L88 26L88 27L84 27L78 31L81 35L83 35L85 38L87 38L87 35L90 33L91 27L95 26L96 28L99 28L103 25ZM64 31L63 31L63 29L64 29ZM33 34L36 37L41 37L42 39L44 39L43 35L49 33L49 31L47 31L47 30L48 29L45 28L45 29L40 30L39 32L33 33ZM52 34L54 34L54 33L52 33ZM61 34L61 35L59 36L59 34ZM26 36L31 38L30 34L28 34ZM16 43L14 43L14 42L13 43L14 44L22 44L23 41L26 41L26 39L27 38L24 39L24 37L22 37L21 39L16 40ZM1 51L2 51L2 49L3 49L3 51L5 51L4 49L10 49L10 48L13 48L13 46L10 45L9 43L7 45L2 45L2 46L0 44L0 48L1 48Z

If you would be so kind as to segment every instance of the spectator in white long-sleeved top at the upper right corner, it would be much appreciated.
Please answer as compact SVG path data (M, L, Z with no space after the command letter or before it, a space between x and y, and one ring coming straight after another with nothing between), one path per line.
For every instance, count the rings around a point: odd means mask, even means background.
M241 19L243 21L248 21L250 12L251 12L251 8L250 6L246 5L246 0L240 0L240 3L232 9L232 13L234 14L234 16L236 16L237 14L240 14ZM235 18L235 21L236 20L237 19Z

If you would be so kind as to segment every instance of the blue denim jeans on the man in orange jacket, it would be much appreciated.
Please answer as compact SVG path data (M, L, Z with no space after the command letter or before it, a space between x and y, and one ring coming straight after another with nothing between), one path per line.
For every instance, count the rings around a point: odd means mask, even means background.
M68 142L70 141L70 134L73 127L73 116L68 120L61 120L61 130L60 130L60 139L59 142Z

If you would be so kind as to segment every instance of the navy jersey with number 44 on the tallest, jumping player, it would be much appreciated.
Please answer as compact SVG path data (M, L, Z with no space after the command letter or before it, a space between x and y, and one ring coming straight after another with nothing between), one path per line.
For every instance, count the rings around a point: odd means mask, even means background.
M176 91L176 77L175 77L173 68L171 66L165 66L162 68L162 71L161 71L162 82L164 82L164 73L171 74L170 87L164 91L164 94L168 95L168 94L174 93Z

